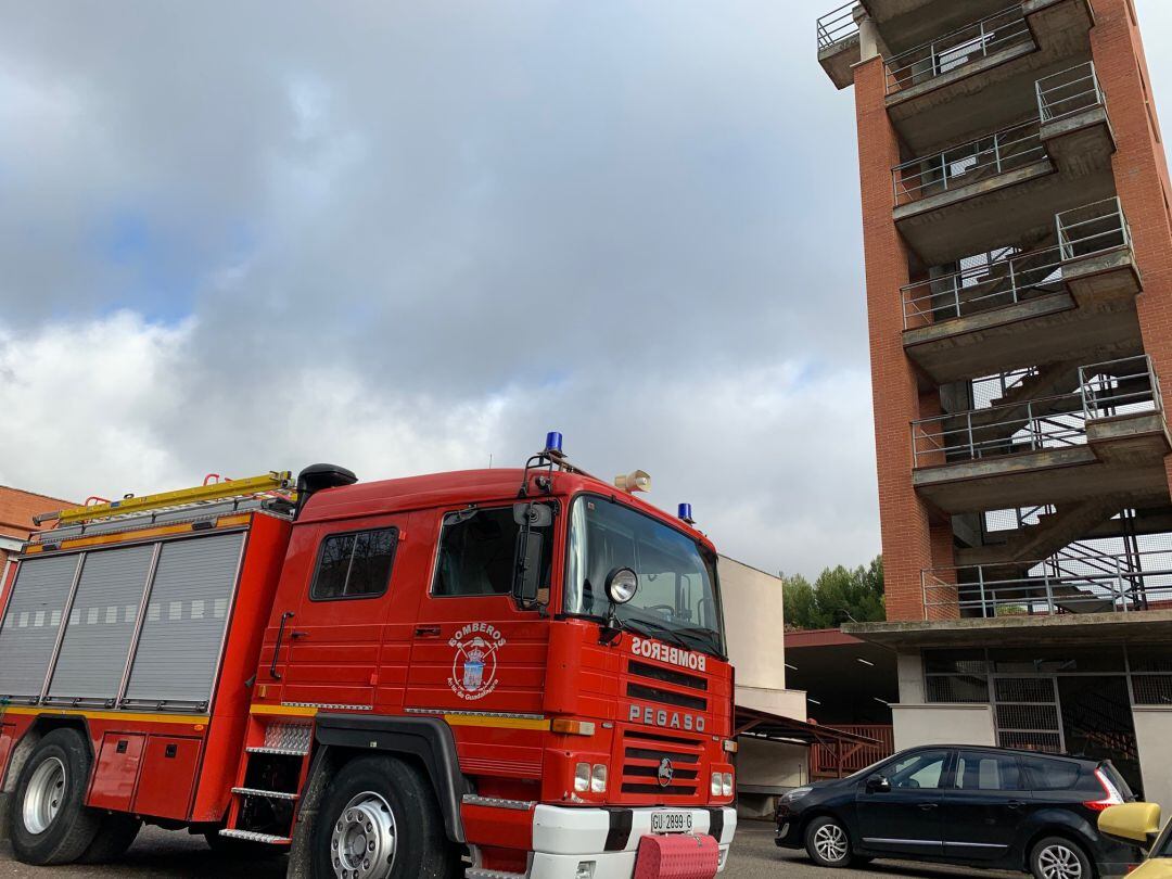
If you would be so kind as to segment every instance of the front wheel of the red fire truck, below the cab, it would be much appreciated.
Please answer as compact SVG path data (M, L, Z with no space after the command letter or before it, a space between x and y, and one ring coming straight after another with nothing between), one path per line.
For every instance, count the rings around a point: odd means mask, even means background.
M459 864L430 783L394 757L343 765L314 824L313 879L450 879Z

